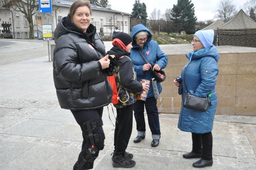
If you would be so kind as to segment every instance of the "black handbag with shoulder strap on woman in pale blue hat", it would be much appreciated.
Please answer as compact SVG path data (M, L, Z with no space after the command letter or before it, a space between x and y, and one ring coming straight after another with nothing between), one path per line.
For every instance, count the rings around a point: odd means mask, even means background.
M208 107L211 106L211 102L209 102L209 96L211 96L211 92L209 93L209 95L207 95L206 98L199 98L199 97L193 96L187 91L187 86L185 82L185 72L187 70L187 67L184 70L184 78L183 78L184 86L185 86L185 99L183 101L183 106L185 108L205 112L207 111Z

